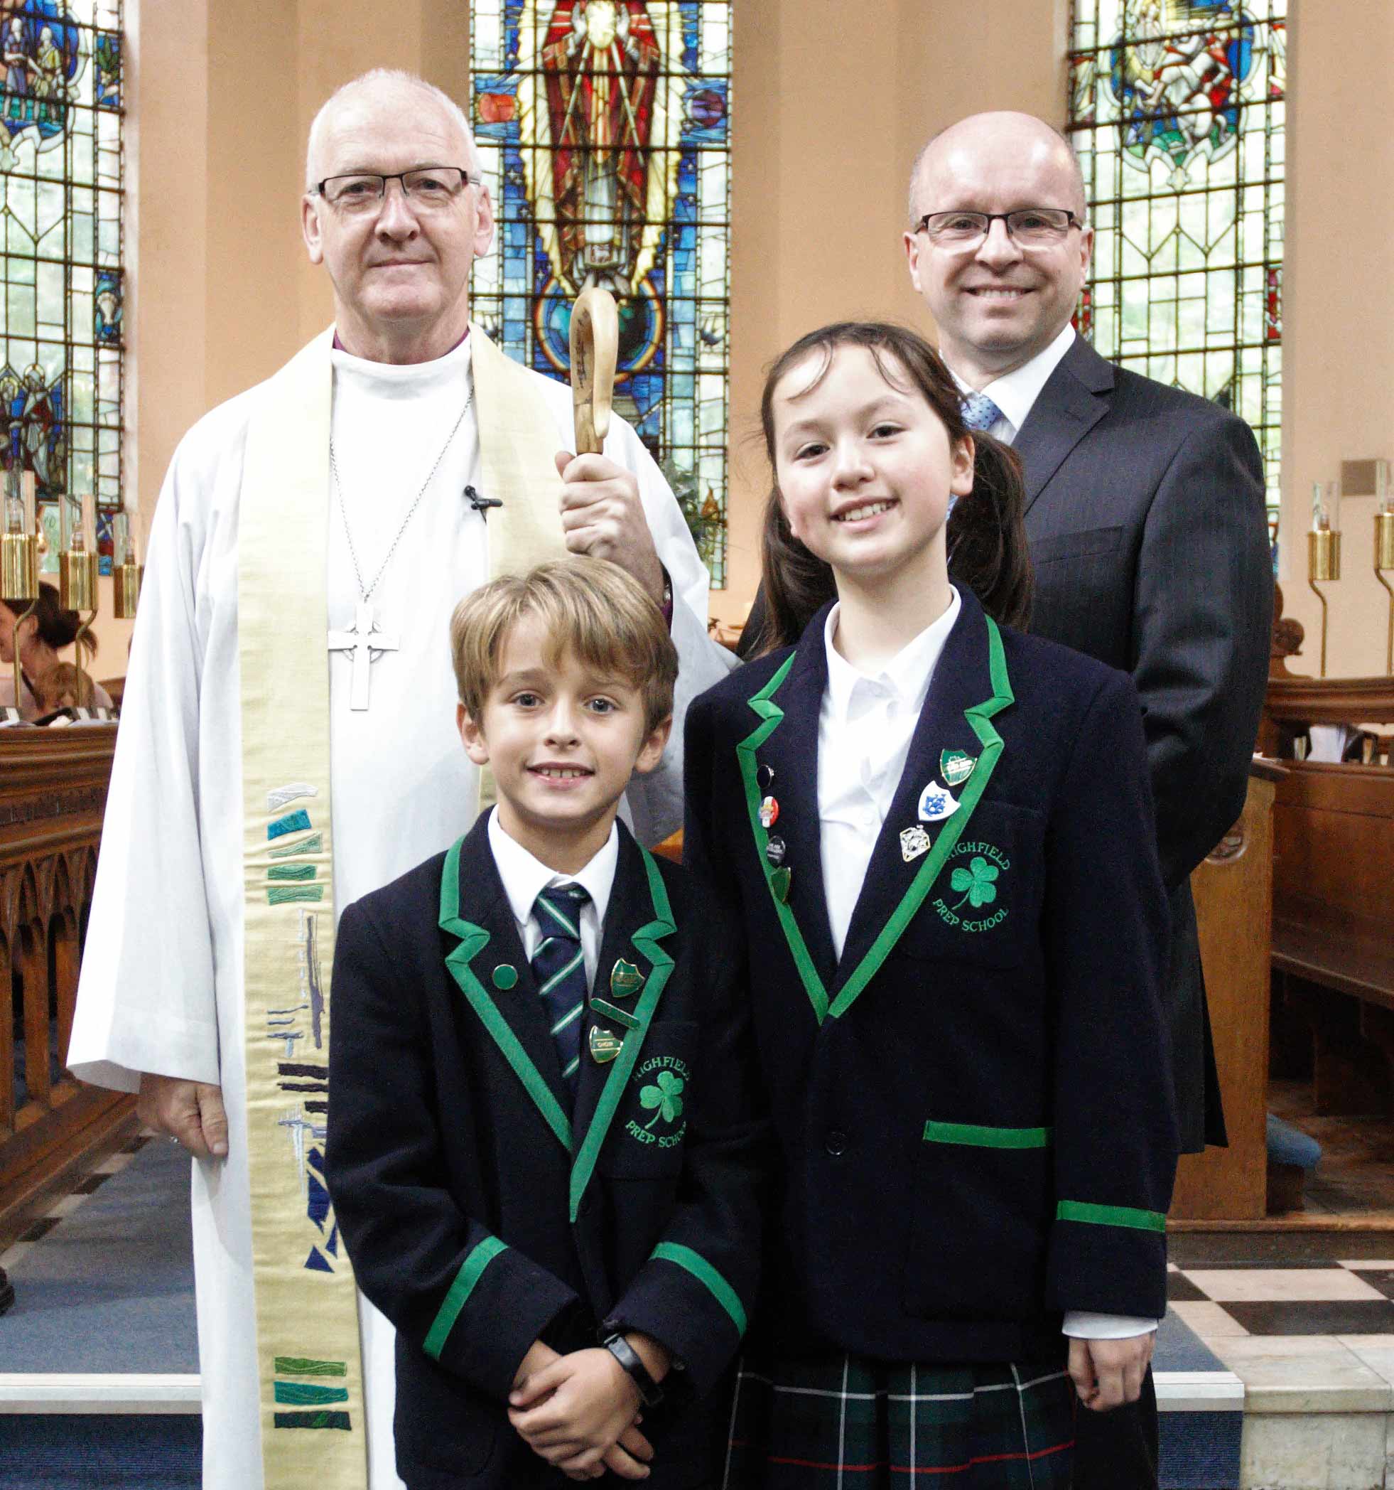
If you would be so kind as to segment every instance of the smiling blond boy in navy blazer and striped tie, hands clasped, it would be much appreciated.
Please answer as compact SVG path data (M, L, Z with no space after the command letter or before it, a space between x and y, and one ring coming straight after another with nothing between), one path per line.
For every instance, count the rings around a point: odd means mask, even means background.
M713 1486L760 1252L740 937L615 821L678 659L591 559L475 592L451 647L497 808L334 966L329 1189L398 1329L398 1472Z

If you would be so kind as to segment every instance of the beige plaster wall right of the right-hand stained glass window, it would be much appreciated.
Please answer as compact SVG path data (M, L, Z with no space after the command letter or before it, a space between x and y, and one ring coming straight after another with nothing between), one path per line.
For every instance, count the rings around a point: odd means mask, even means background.
M1279 580L1285 612L1306 627L1288 666L1315 676L1312 483L1339 477L1342 460L1394 460L1394 137L1382 104L1394 7L1300 0L1293 10ZM1328 676L1385 670L1388 596L1372 572L1373 519L1373 498L1342 502L1342 578L1323 587Z

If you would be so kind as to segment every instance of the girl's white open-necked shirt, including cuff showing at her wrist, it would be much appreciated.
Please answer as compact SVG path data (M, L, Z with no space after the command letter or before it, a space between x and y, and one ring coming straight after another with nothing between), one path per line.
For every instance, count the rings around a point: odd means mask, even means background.
M876 676L853 668L837 650L840 605L833 606L824 626L828 685L818 712L818 831L828 928L838 960L871 851L906 770L934 669L962 609L958 590L952 586L950 590L953 597L944 614ZM1124 1340L1154 1331L1157 1320L1071 1310L1060 1328L1081 1340Z

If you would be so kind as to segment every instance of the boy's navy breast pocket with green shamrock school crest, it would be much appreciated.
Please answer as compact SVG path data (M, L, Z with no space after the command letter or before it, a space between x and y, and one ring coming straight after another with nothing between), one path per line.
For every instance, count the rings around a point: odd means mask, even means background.
M682 1170L682 1146L697 1064L697 1024L649 1025L596 1168L612 1180L669 1179Z

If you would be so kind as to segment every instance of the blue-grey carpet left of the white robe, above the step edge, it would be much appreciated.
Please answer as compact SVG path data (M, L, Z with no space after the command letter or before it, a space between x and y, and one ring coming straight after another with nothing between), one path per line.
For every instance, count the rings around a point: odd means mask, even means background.
M0 1371L197 1372L189 1156L155 1138L12 1271Z

